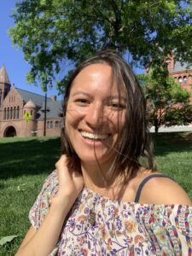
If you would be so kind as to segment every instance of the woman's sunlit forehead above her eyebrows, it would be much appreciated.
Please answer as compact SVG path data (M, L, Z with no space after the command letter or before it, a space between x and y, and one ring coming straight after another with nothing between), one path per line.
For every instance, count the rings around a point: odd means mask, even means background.
M107 63L90 64L84 67L73 79L71 93L76 90L85 90L88 93L100 91L103 96L119 95L125 92L123 86L118 86L113 69Z

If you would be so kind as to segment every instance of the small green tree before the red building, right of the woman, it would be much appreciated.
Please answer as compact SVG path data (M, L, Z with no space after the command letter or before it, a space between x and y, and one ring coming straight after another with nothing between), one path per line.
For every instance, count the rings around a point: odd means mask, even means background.
M172 77L167 77L163 83L161 77L154 79L152 71L139 75L138 79L147 99L148 121L154 125L155 132L160 125L189 125L192 122L190 93Z

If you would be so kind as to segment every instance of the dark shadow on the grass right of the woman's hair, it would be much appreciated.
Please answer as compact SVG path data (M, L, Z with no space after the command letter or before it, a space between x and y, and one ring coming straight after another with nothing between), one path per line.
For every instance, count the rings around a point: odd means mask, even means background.
M192 152L192 132L162 132L152 135L155 156L174 152Z

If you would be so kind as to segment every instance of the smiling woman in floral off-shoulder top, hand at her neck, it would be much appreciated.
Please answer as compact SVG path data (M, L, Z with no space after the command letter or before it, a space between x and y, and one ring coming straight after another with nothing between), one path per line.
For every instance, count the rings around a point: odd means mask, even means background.
M111 51L84 61L63 113L61 159L16 255L191 255L192 203L153 171L143 93L125 61Z

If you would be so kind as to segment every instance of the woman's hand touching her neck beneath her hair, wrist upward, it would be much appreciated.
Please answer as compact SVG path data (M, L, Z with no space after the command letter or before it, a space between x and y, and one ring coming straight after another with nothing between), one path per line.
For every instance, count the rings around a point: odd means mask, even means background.
M59 201L67 200L73 204L84 187L83 176L73 169L71 160L68 159L66 154L61 155L55 167L59 179L59 189L55 198Z

